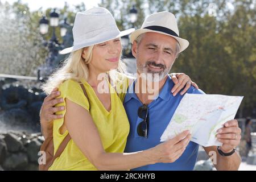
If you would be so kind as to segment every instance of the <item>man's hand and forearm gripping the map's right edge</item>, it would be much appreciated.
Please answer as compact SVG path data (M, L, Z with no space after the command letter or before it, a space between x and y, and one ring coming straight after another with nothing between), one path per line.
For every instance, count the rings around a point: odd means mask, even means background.
M231 152L236 148L241 140L241 129L238 127L238 122L236 119L230 120L225 123L224 127L219 129L217 134L218 140L223 143L220 150L224 153ZM230 156L222 156L218 153L217 146L204 147L205 152L213 160L213 164L217 170L238 170L241 164L240 155L234 152ZM216 154L216 163L214 163L214 158Z

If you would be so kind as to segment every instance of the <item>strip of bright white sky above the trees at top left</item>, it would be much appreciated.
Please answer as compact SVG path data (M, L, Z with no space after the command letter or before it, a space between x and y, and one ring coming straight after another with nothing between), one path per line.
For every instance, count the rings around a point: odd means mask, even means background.
M0 0L2 3L3 2L9 2L10 4L13 4L17 0ZM21 0L22 3L27 3L28 7L30 8L30 11L36 11L40 7L43 8L43 10L46 10L48 8L63 8L64 3L67 2L68 5L79 5L81 2L85 3L86 9L89 9L91 7L98 6L98 3L100 3L100 0Z

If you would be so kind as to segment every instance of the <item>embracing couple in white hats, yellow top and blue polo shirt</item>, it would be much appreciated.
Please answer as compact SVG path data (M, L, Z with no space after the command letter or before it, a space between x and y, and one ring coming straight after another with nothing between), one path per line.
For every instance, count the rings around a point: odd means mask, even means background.
M136 79L121 73L119 61L120 38L130 33ZM71 53L68 59L43 85L49 94L40 113L44 137L53 137L55 153L71 137L49 170L192 170L199 145L189 131L160 142L183 94L204 94L185 74L168 75L189 44L179 38L175 16L155 13L140 29L120 32L112 14L95 7L77 13L73 37L73 47L61 51ZM216 137L221 147L204 147L216 151L216 168L238 169L237 121L226 122Z

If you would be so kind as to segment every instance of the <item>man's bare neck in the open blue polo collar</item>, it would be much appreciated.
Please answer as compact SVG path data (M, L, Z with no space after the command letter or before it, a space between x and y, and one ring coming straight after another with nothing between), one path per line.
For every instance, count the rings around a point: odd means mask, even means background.
M152 101L154 101L154 98L158 96L159 92L162 90L167 77L168 75L159 82L150 82L148 80L143 80L141 77L137 77L137 82L135 83L135 93L139 100L143 104L150 104Z

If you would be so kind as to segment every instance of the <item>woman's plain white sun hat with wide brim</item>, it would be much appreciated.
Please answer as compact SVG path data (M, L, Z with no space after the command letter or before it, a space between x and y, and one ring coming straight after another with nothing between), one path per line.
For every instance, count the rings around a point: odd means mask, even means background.
M60 54L71 53L80 48L106 42L131 34L135 29L119 31L109 10L93 7L84 13L77 13L73 26L73 47L65 48Z

